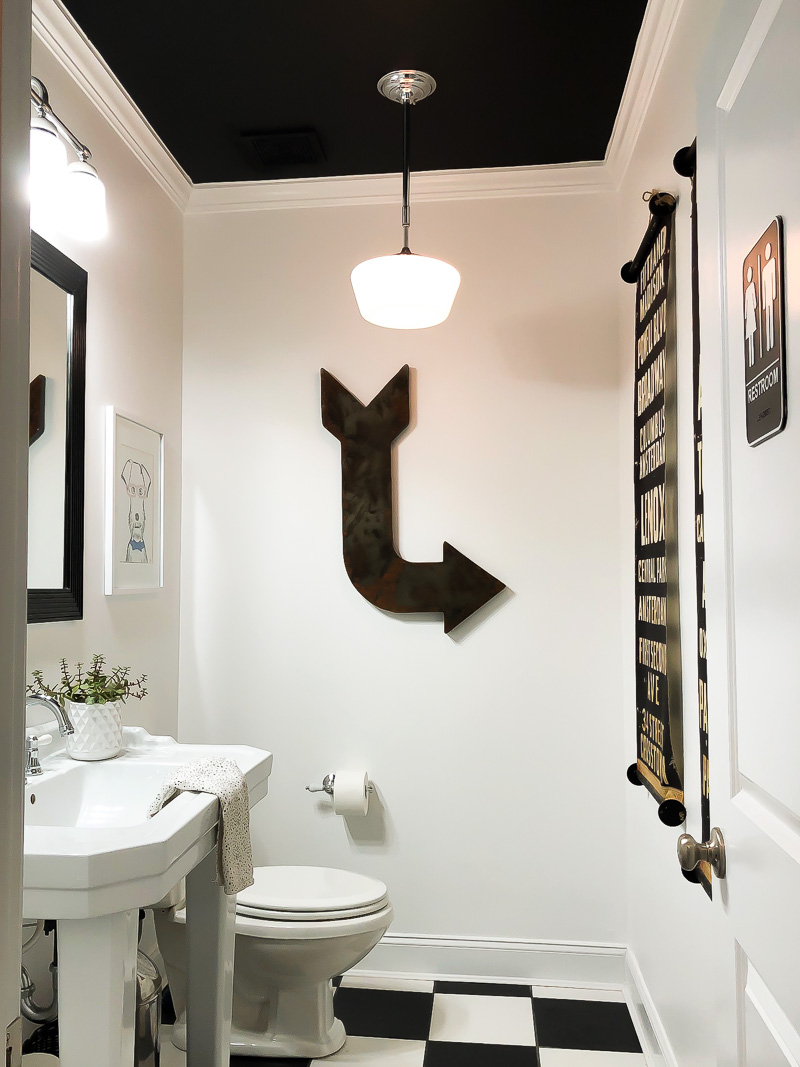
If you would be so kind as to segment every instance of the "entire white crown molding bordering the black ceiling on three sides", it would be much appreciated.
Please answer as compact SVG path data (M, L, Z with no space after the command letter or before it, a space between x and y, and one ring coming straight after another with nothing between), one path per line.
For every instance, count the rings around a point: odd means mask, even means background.
M32 0L33 32L148 174L187 214L397 204L399 174L193 185L60 0ZM597 162L415 172L420 202L562 196L619 189L685 0L649 0L606 158Z

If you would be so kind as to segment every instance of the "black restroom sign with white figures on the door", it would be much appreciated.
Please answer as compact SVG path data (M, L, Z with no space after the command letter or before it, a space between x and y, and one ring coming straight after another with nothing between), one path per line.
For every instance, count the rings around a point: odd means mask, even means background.
M745 257L741 286L748 444L759 445L786 425L782 219Z

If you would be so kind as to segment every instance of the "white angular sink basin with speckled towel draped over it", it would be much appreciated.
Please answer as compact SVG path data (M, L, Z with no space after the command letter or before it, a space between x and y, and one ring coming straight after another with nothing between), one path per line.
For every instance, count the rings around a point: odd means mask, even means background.
M267 795L272 754L247 746L179 745L126 727L125 751L81 763L65 751L42 760L26 784L23 909L32 918L89 919L161 899L212 846L219 803L180 793L147 809L176 767L227 755L244 775L251 808ZM121 832L124 831L124 832Z

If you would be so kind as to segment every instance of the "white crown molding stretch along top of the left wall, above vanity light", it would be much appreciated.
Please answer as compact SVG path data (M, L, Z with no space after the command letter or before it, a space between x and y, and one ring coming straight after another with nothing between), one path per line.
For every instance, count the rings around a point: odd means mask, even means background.
M33 0L33 33L182 210L192 182L59 0Z

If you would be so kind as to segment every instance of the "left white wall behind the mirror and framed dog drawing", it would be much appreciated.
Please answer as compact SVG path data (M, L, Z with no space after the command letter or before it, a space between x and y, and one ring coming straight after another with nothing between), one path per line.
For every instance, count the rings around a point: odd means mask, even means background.
M32 71L57 113L90 145L106 184L110 233L97 244L44 233L89 272L84 617L28 627L28 666L105 652L148 675L150 695L125 719L158 733L177 726L182 218L76 83L34 36ZM106 404L165 435L164 588L103 594Z

